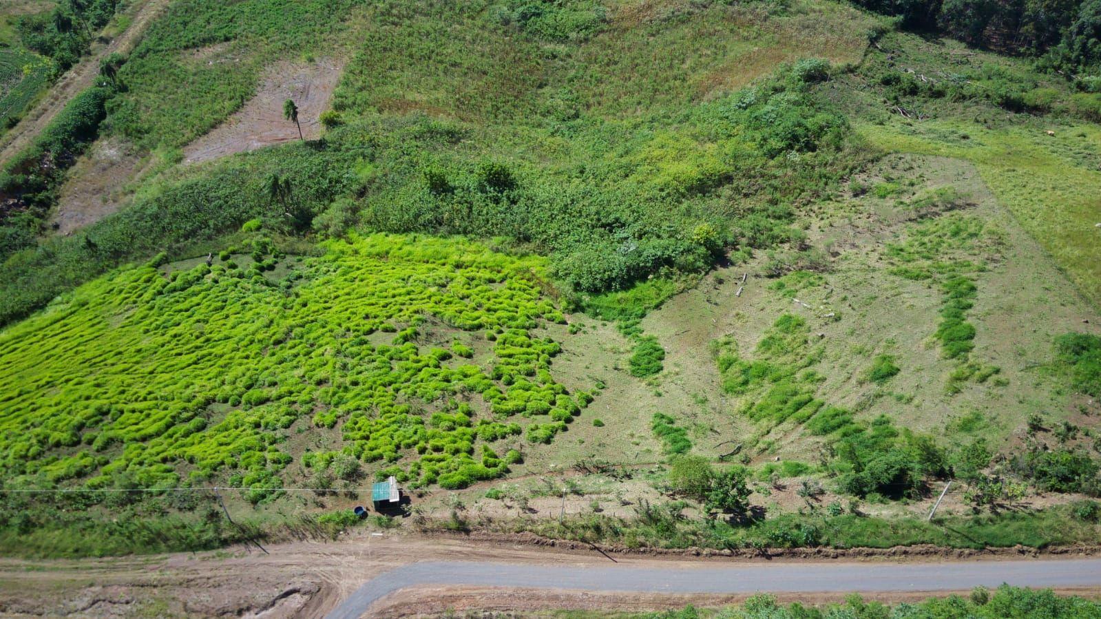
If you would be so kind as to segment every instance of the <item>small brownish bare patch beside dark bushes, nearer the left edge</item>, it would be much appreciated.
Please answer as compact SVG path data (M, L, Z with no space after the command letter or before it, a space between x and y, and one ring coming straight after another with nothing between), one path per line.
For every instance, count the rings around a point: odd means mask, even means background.
M92 144L62 187L51 219L57 234L69 235L118 210L122 188L140 164L133 146L122 140L107 138Z

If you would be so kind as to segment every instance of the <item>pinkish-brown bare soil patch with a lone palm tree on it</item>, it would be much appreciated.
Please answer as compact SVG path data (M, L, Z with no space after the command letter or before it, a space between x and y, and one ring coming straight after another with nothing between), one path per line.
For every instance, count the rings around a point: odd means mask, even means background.
M283 101L287 99L298 106L302 135L307 140L319 138L318 119L328 108L341 68L330 58L270 67L260 90L240 111L184 148L184 162L210 161L297 140L298 128L283 118Z

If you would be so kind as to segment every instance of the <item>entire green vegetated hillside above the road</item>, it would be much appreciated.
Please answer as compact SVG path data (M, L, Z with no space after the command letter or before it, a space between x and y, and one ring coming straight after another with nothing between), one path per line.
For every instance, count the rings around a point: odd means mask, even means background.
M176 0L81 137L144 158L118 210L0 271L0 481L41 492L0 549L335 534L390 475L373 526L1092 543L1101 95L896 25ZM310 66L331 109L285 129L319 139L184 161ZM21 221L50 170L7 177Z

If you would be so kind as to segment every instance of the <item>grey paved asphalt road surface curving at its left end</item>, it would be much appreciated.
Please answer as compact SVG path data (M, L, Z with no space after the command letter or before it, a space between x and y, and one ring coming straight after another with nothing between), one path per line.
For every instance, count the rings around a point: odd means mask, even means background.
M1101 586L1101 560L970 563L781 563L668 567L565 567L504 563L426 562L364 584L329 619L363 616L375 600L415 585L548 587L668 594L944 591L1002 583L1029 587Z

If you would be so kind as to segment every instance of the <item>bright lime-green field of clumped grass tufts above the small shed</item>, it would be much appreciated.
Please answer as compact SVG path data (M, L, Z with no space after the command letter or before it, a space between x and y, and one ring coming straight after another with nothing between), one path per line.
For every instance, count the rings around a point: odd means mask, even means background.
M372 236L301 262L237 260L123 269L0 334L6 484L279 487L299 456L284 446L293 432L339 426L379 475L462 487L508 470L480 444L522 428L497 420L549 417L549 442L588 401L548 371L558 345L531 333L564 321L541 295L541 259ZM275 264L287 270L272 281ZM487 334L490 367L429 348L436 323Z

